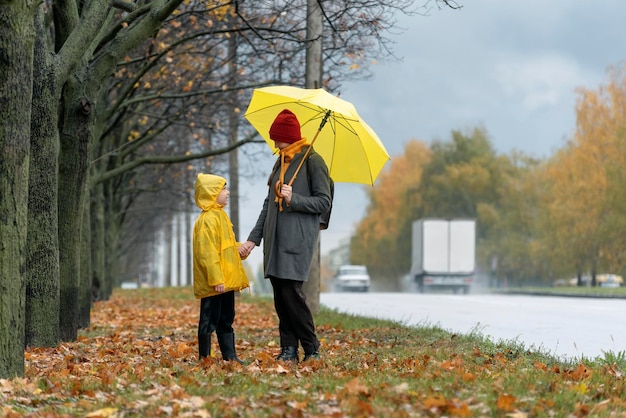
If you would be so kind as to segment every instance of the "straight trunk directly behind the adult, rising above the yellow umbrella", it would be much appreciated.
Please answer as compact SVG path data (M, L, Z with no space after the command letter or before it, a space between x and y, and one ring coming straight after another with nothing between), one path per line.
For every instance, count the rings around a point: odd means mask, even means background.
M307 48L305 87L320 88L322 86L322 10L317 0L307 0ZM303 289L307 304L313 314L320 309L320 239L311 262L309 279Z

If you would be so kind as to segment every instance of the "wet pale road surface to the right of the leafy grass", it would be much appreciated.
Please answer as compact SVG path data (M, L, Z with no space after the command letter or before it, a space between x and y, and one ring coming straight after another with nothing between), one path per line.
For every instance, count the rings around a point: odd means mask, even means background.
M578 359L626 351L626 300L551 296L322 293L340 312L436 325L447 331L515 340L526 348Z

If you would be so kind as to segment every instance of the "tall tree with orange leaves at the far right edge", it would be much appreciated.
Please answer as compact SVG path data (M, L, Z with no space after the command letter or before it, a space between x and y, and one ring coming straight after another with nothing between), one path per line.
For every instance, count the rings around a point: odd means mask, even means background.
M608 85L581 89L573 139L549 162L550 243L580 276L623 268L626 256L626 68Z

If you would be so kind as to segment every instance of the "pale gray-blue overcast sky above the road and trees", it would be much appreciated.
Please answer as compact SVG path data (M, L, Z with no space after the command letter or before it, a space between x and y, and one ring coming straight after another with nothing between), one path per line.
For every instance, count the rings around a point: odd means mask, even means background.
M417 4L420 0L418 0ZM626 60L624 0L458 0L461 10L399 16L398 63L379 63L370 80L344 85L389 154L411 139L447 140L484 127L495 149L551 155L575 128L576 89L597 89ZM241 180L241 237L254 225L273 158L261 181ZM322 254L349 238L363 217L364 186L337 184ZM256 248L254 268L262 260ZM256 270L255 270L256 271Z

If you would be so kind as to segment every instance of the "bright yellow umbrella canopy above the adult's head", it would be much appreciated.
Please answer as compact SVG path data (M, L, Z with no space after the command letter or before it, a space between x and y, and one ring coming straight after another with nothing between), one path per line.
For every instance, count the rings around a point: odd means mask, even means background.
M245 113L273 151L270 126L283 110L300 122L302 136L324 158L336 182L373 185L389 154L354 106L324 89L274 86L255 89Z

